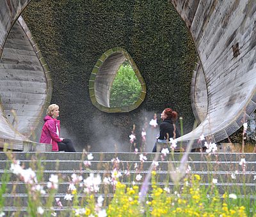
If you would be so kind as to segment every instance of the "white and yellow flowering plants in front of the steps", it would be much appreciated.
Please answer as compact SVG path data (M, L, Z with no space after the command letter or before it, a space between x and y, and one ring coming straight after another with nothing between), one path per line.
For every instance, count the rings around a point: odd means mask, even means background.
M150 183L143 182L141 170L143 163L147 161L147 156L143 154L140 154L140 163L134 165L135 173L131 168L124 170L122 161L113 158L112 165L109 165L111 172L100 177L99 174L91 172L90 167L95 162L92 161L93 155L86 153L87 159L83 161L84 172L68 177L69 186L64 198L59 198L57 193L62 177L51 174L45 183L44 168L40 160L34 158L30 165L33 169L26 169L20 165L20 161L14 160L12 154L8 155L12 160L11 172L26 184L29 216L56 216L52 210L56 206L58 209L66 209L70 216L255 216L252 213L256 211L256 204L250 200L250 195L240 197L244 193L239 191L220 194L217 179L208 177L207 180L212 182L205 186L198 174L191 173L189 166L186 167L185 178L171 188L168 179L157 184L161 168L159 162L152 161ZM162 152L161 160L166 156ZM241 159L239 165L243 170L236 174L243 176L246 161ZM236 179L235 174L232 174L232 179ZM142 182L140 188L139 184ZM149 190L143 191L148 186ZM111 193L113 197L109 197ZM45 195L48 196L47 200L44 200ZM0 197L0 207L3 209L3 195ZM58 214L62 215L66 216L67 213Z

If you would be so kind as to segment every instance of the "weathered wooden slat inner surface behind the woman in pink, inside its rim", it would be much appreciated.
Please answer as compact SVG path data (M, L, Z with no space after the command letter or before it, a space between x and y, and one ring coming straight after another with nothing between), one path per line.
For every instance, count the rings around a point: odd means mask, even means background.
M17 70L19 64L23 67ZM17 131L31 135L42 116L47 79L19 22L15 23L6 40L0 61L0 78L1 101L6 116Z

